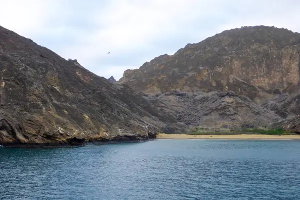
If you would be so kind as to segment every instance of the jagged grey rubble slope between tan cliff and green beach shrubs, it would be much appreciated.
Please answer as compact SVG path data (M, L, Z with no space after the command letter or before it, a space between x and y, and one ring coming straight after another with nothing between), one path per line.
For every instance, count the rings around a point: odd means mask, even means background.
M273 122L283 120L248 97L236 95L232 91L204 93L173 90L162 94L149 94L147 97L161 110L176 116L178 121L189 127L269 127Z

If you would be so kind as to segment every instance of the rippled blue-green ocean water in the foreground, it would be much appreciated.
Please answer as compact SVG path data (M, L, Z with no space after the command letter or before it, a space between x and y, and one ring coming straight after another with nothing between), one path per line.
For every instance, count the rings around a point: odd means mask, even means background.
M300 199L300 141L0 147L0 199Z

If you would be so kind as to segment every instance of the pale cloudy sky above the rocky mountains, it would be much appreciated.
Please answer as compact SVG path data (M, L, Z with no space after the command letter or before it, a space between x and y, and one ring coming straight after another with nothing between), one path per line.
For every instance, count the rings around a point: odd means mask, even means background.
M299 0L0 0L0 5L1 26L116 79L128 68L225 29L274 25L300 32Z

